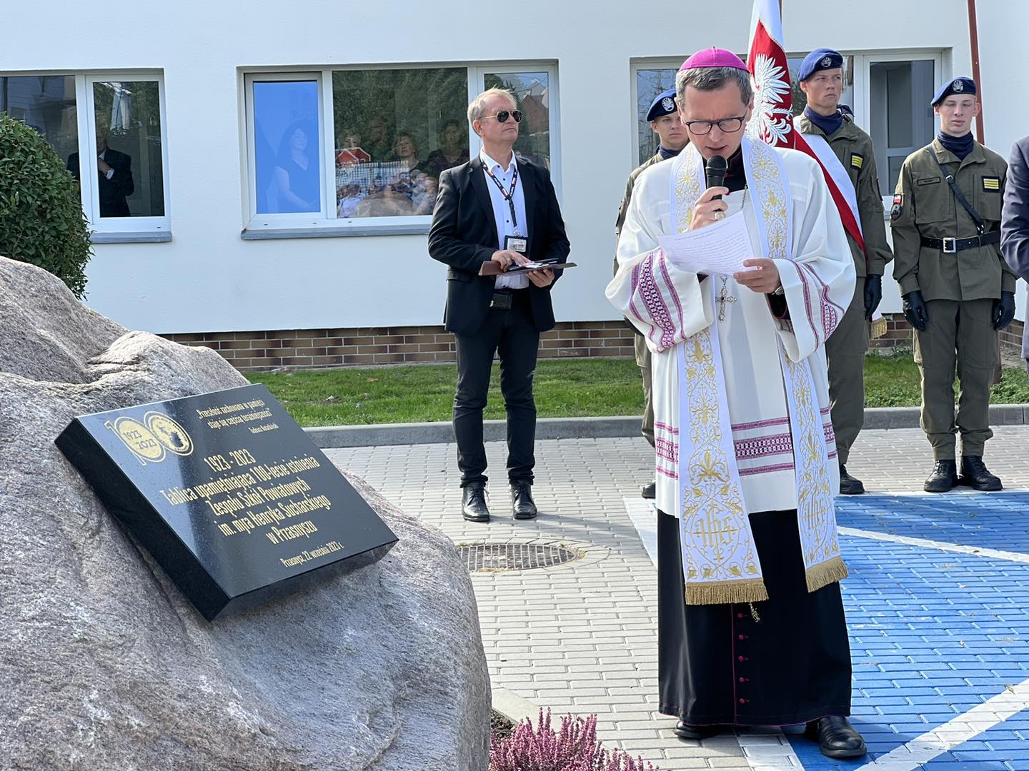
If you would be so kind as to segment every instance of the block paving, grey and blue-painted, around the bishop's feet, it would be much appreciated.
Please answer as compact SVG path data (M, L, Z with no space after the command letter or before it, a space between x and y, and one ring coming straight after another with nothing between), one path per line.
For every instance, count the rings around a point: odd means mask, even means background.
M663 771L696 768L1029 770L1029 427L999 427L987 464L1000 493L928 495L920 430L867 431L848 469L868 493L838 499L854 660L854 722L871 754L832 762L793 729L683 741L657 711L650 472L642 439L537 443L541 514L514 521L504 447L487 445L494 519L460 517L452 444L327 450L456 544L560 544L556 567L473 573L490 674L556 714L600 715L605 744Z

